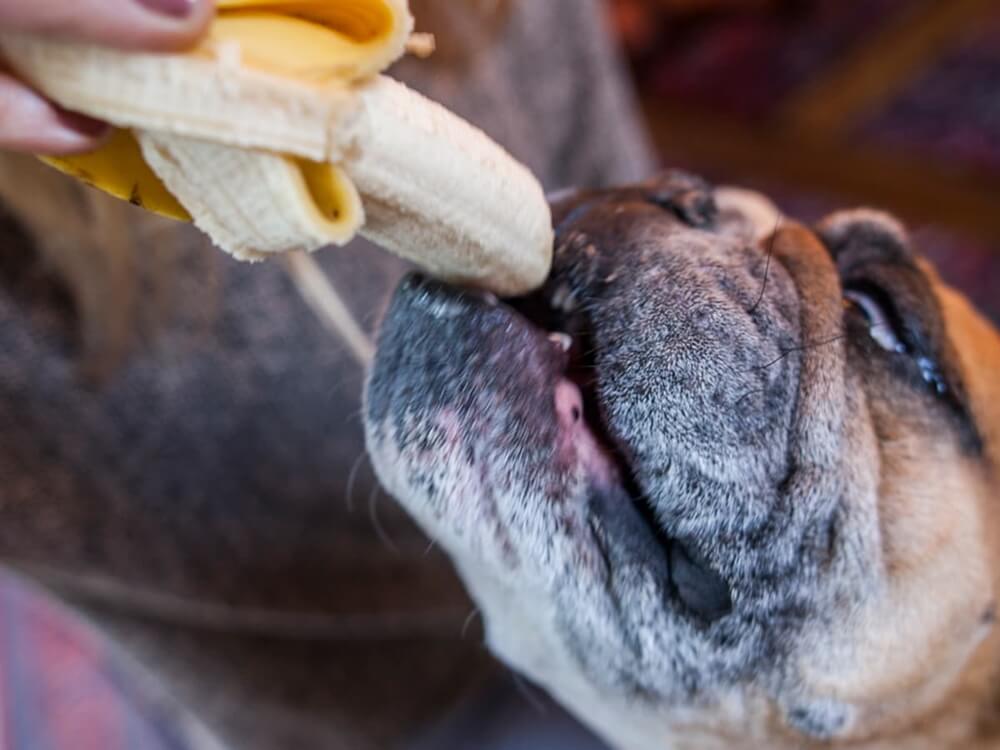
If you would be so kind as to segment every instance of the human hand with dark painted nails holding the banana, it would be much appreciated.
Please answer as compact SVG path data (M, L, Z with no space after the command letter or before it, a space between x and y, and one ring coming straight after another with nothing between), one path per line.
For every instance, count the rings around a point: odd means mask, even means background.
M197 41L213 12L211 0L0 0L0 29L169 51ZM0 149L78 153L95 148L106 131L48 101L0 60Z

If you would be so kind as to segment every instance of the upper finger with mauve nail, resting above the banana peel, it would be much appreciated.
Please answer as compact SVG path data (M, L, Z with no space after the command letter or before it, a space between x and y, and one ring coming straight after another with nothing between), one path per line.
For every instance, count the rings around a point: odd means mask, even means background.
M0 0L0 28L122 49L182 49L214 13L212 0Z

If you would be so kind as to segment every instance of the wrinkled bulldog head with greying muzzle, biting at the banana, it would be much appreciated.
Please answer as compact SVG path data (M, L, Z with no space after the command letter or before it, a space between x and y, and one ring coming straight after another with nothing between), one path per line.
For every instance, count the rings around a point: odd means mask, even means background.
M630 750L968 746L996 333L874 212L758 237L669 173L554 215L531 298L405 281L368 386L490 647Z

